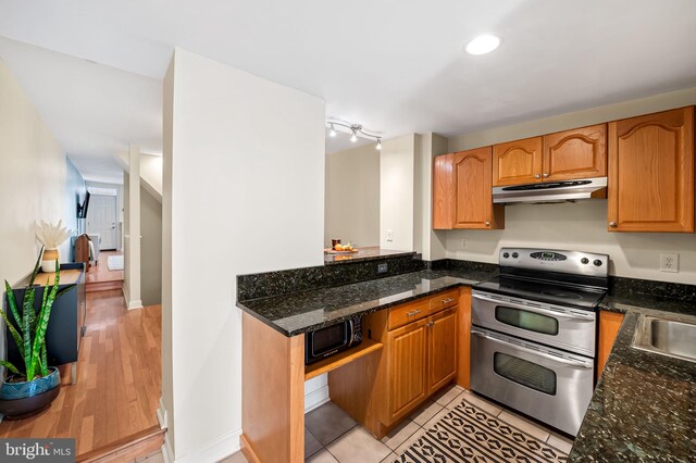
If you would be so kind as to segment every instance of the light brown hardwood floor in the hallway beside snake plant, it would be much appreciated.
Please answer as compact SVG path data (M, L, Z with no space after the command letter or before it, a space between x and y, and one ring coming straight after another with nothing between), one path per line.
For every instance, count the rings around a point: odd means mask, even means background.
M3 421L1 438L72 437L80 455L158 424L161 306L128 311L121 290L88 292L86 325L77 384L70 384L70 367L62 368L51 406L35 417Z

